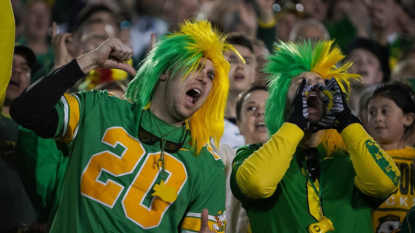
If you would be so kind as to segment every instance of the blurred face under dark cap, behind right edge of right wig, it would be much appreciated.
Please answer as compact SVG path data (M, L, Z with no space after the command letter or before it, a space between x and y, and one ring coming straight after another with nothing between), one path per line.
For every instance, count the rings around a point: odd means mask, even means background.
M379 59L366 49L353 49L349 58L354 61L352 73L358 73L365 83L376 84L383 79L381 63Z

